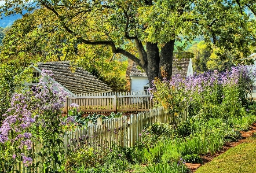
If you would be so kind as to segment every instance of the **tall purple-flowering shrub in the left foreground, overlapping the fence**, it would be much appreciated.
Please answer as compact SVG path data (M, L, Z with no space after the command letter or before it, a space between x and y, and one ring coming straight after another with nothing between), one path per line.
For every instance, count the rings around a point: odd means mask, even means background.
M48 158L43 163L48 171L60 170L62 164L64 131L61 108L68 95L62 87L53 83L49 78L52 75L52 72L43 70L42 78L37 86L32 87L32 91L13 95L11 108L3 115L5 120L0 128L0 142L3 145L11 143L15 155L13 159L22 157L25 166L32 160L23 154L23 148L31 153L32 146L42 143L44 147L38 154Z

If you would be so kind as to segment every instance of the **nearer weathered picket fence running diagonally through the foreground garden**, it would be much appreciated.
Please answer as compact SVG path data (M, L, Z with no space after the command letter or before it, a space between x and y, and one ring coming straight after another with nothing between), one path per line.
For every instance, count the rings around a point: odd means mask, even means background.
M104 122L100 118L97 119L97 124L90 123L87 127L67 131L64 135L65 153L67 154L69 149L74 149L82 145L92 147L101 152L111 148L113 143L131 147L142 138L142 131L146 124L156 122L168 124L173 124L173 122L180 123L186 119L187 115L188 112L184 109L180 116L171 116L166 109L160 107L151 109L150 111L131 114L130 116L108 119ZM32 147L32 159L34 164L39 163L38 167L28 169L22 163L17 163L13 165L13 172L42 172L42 163L45 158L38 156L42 148L42 144Z

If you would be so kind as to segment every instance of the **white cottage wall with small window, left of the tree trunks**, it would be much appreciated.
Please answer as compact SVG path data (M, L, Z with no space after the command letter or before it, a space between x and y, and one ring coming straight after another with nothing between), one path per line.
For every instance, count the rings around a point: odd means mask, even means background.
M144 91L144 86L149 86L147 77L134 76L131 78L131 91Z

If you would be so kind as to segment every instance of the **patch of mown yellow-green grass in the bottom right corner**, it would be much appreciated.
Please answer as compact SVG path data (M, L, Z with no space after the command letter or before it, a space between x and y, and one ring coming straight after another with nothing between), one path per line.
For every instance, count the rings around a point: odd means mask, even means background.
M209 163L198 168L196 173L255 173L256 137L229 149Z

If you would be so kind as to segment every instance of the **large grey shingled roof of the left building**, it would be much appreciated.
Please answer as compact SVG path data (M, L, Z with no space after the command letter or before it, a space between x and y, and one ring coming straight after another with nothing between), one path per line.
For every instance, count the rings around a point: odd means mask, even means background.
M70 61L39 62L37 65L41 70L51 70L53 79L74 94L112 91L111 87L81 67L75 67L71 72Z

